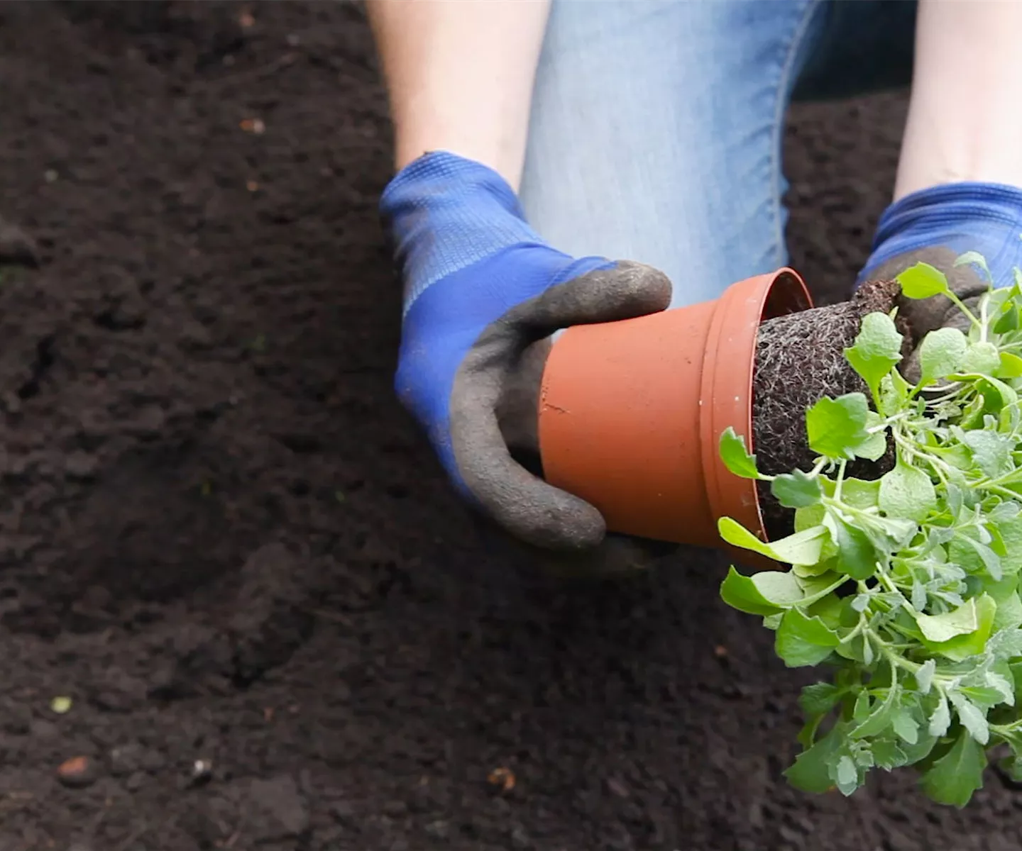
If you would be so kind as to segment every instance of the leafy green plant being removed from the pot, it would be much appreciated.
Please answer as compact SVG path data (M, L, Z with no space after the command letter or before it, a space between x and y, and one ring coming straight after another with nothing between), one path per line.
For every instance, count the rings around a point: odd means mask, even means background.
M957 263L986 271L974 252ZM795 532L764 543L722 518L726 540L791 567L732 567L721 593L762 616L788 666L834 669L802 692L790 783L850 795L872 768L914 765L930 798L965 806L995 746L1022 778L1022 274L972 310L926 264L898 283L909 298L950 298L968 332L928 334L913 384L897 369L894 312L866 316L845 357L870 397L806 411L810 470L759 473L744 439L722 435L728 468L770 482ZM881 478L845 474L889 444L896 462Z

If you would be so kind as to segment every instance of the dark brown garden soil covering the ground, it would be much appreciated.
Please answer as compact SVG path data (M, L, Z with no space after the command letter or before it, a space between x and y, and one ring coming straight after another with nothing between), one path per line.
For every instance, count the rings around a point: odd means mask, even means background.
M1016 849L992 774L787 788L805 677L716 557L559 584L477 526L391 393L364 21L241 11L0 0L0 849ZM825 298L902 117L795 113Z

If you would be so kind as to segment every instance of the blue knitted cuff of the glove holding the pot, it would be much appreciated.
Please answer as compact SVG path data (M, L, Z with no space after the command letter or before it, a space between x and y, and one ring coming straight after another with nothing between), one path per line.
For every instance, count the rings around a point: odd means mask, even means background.
M380 216L405 279L405 313L432 284L522 242L545 244L514 190L481 162L433 151L383 190Z

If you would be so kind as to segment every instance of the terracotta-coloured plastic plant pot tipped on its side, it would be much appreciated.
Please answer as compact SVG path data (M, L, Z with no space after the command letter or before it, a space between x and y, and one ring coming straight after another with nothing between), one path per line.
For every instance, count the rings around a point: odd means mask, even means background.
M780 269L714 301L568 329L540 393L544 477L596 506L609 531L721 547L728 516L765 540L755 482L728 471L719 439L733 426L752 446L760 323L811 303Z

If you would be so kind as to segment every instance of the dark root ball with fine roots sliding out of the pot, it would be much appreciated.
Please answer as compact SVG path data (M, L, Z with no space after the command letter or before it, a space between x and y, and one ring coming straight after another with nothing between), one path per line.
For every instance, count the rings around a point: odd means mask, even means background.
M855 341L863 317L875 312L889 313L894 306L898 285L893 281L871 281L848 301L814 308L797 314L766 320L756 339L753 371L753 447L760 471L769 474L808 470L816 459L805 431L805 411L824 396L869 390L851 369L844 349ZM903 357L912 349L912 338L903 322ZM848 475L874 479L894 463L893 450L874 463L856 459L848 465ZM784 508L770 491L770 484L757 484L763 522L770 538L793 531L794 512Z

